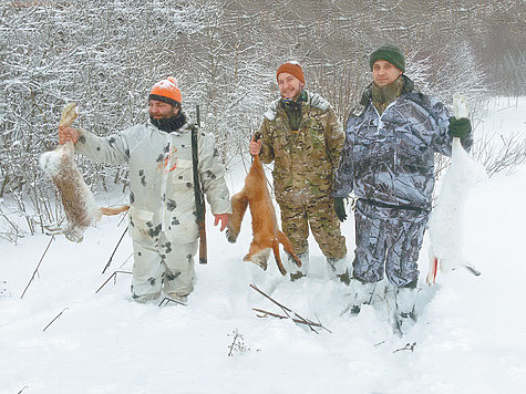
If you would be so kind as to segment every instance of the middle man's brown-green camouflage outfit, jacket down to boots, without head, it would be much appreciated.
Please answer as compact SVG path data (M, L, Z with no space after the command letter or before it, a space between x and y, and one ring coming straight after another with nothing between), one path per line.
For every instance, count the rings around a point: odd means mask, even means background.
M337 274L345 272L345 238L340 234L331 197L344 141L334 111L318 94L302 91L293 103L282 98L274 102L259 133L261 160L275 162L274 187L281 210L281 227L302 263L308 263L310 225L332 270Z

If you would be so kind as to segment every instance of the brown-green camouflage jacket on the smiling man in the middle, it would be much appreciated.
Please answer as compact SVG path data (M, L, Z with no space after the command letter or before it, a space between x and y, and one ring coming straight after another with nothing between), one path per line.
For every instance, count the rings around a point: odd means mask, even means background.
M278 203L301 204L330 196L338 168L343 129L329 102L306 93L298 133L292 133L281 100L270 105L259 128L260 158L266 164L275 162L272 176Z

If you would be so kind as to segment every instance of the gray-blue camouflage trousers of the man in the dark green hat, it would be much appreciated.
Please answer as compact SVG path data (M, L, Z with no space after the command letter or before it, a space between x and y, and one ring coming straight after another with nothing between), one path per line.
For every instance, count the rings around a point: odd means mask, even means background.
M353 277L363 282L378 282L385 271L395 287L415 283L427 219L425 210L379 207L358 200Z

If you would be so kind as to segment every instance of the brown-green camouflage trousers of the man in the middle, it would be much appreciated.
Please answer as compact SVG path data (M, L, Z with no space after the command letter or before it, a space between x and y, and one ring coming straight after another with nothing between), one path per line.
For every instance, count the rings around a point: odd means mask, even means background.
M297 255L309 249L309 225L326 257L341 259L347 255L345 237L340 232L340 220L332 208L331 197L309 198L299 204L278 204L281 209L281 228Z

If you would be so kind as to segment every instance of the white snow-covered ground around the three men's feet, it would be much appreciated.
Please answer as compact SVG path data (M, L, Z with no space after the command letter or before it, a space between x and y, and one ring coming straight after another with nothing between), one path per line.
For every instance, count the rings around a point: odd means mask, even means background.
M524 133L525 113L525 97L502 98L477 132ZM229 174L230 189L239 190L243 178L238 166ZM104 205L110 197L97 198ZM496 175L471 194L465 256L479 277L439 273L435 287L427 288L425 241L420 320L402 339L391 332L389 292L358 318L342 315L348 289L328 279L312 239L311 273L297 282L282 279L272 258L266 274L244 263L249 218L230 245L208 214L209 263L196 267L186 307L131 301L131 277L123 273L95 293L112 272L132 267L125 236L102 274L124 231L118 217L104 218L80 245L56 237L23 299L50 238L28 237L17 246L1 241L0 393L524 392L525 199L526 166L512 176ZM342 229L352 255L352 218ZM252 308L282 311L250 289L252 281L330 332L258 318ZM229 356L236 332L243 339Z

